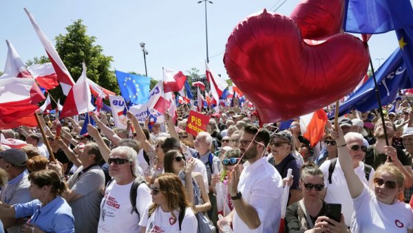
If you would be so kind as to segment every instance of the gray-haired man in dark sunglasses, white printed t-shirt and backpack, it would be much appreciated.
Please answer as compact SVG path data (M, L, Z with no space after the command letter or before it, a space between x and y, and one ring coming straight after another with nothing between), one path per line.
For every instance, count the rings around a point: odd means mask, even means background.
M138 173L137 156L128 146L114 148L109 154L109 175L114 179L100 203L98 232L140 231L138 223L151 202L151 190Z

